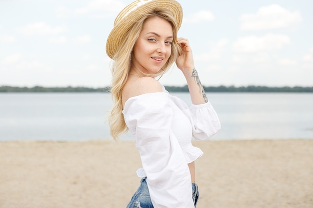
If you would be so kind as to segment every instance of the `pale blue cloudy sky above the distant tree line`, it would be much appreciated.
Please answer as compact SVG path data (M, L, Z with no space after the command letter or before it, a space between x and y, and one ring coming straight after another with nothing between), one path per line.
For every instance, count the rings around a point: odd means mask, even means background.
M0 0L0 86L105 87L130 0ZM178 0L204 86L313 86L313 0ZM159 80L186 84L175 65Z

